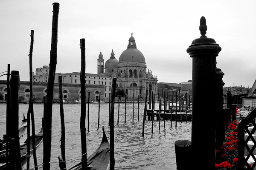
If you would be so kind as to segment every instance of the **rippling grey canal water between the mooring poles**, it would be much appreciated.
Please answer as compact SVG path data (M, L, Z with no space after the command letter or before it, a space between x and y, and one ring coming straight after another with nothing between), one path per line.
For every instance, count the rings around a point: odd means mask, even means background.
M28 104L19 105L19 122L21 124L23 113L27 114ZM108 126L109 105L100 105L100 128L98 129L99 107L95 104L89 105L90 128L87 129L87 156L96 150L102 140L102 126L105 127L109 139ZM87 128L87 105L86 105L86 128ZM156 109L158 109L156 107ZM142 137L144 104L120 104L119 124L117 124L118 104L115 104L114 111L114 147L115 147L115 170L176 170L175 141L180 139L191 140L191 122L166 121L164 128L163 120L154 121L153 133L151 133L151 121L145 121L145 134ZM43 104L34 104L35 130L38 133L41 129L41 117L43 117ZM81 161L81 136L80 136L80 104L64 104L65 130L66 130L66 159L67 168ZM6 104L0 104L0 136L6 134ZM52 108L52 147L51 147L51 170L59 170L58 156L61 156L61 118L59 104L53 104ZM23 144L26 136L20 140ZM189 158L186 158L189 159ZM184 162L186 162L184 158ZM33 159L30 159L30 168L33 167ZM38 169L43 169L43 143L37 149ZM26 166L23 167L26 169Z

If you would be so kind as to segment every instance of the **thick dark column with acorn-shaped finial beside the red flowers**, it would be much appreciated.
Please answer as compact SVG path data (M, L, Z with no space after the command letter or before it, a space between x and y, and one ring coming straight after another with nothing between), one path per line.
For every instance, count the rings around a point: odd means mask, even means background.
M201 37L187 49L192 57L192 166L215 169L216 57L221 47L205 36L206 20L200 19ZM200 163L199 163L200 162Z

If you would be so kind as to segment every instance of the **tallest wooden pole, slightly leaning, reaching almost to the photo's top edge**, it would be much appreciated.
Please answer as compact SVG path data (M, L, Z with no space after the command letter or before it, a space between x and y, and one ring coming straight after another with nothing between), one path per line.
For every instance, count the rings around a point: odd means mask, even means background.
M58 13L59 3L53 3L52 14L52 44L50 51L49 78L47 82L47 103L45 109L45 127L44 127L44 158L43 169L50 170L51 146L52 146L52 99L55 79L55 70L57 65L57 44L58 44Z

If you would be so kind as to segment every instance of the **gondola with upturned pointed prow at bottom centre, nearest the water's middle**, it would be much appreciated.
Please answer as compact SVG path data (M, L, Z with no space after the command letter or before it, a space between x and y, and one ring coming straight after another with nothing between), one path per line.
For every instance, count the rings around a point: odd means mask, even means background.
M108 138L105 134L104 127L102 127L103 130L103 136L102 136L102 142L99 145L99 147L95 150L93 154L91 154L87 158L87 170L107 170L109 166L109 160L110 160L110 144L108 142ZM65 169L63 165L61 164L63 160L59 159L59 165L61 170L71 170L73 168L76 168L74 170L81 170L82 169L82 163L76 164L75 166Z

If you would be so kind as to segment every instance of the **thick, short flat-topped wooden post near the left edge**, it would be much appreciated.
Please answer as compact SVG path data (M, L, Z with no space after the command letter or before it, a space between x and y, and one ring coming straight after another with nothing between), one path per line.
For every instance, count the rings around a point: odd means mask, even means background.
M20 76L19 71L12 71L10 86L12 126L10 129L9 142L9 169L21 170L20 140L19 140L19 94Z

